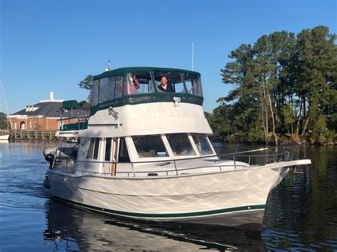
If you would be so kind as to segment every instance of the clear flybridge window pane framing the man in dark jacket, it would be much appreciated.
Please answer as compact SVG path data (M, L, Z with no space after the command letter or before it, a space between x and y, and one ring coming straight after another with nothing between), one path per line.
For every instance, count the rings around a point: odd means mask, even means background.
M156 84L156 89L158 92L165 92L161 85L161 77L166 77L167 87L166 90L172 90L171 92L185 92L183 87L183 80L181 79L181 73L177 71L164 71L156 70L154 71L154 82ZM168 92L168 91L166 91Z

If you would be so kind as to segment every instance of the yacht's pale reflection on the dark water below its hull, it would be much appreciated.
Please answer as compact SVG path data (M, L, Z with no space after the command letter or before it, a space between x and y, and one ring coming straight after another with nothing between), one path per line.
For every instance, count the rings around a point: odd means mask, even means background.
M172 225L114 219L50 199L44 239L55 250L263 250L260 231L223 226Z

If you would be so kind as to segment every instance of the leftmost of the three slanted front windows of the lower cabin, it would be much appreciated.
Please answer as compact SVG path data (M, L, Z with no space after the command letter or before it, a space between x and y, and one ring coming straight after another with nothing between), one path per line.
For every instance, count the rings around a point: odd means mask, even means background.
M159 135L132 136L139 158L167 157L163 140Z

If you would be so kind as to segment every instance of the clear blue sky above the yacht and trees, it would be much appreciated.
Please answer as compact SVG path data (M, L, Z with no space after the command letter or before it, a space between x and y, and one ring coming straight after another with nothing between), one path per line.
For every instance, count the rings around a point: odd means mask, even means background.
M192 69L204 110L234 87L221 82L228 55L274 31L328 26L336 0L0 0L0 77L9 113L42 99L87 98L87 75L119 67ZM7 113L0 87L0 111Z

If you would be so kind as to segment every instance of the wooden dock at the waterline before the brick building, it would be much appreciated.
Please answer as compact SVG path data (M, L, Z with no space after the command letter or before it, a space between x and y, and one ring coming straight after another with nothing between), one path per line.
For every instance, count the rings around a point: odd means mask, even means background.
M11 130L9 131L9 140L40 140L40 141L55 141L56 131L42 130Z

